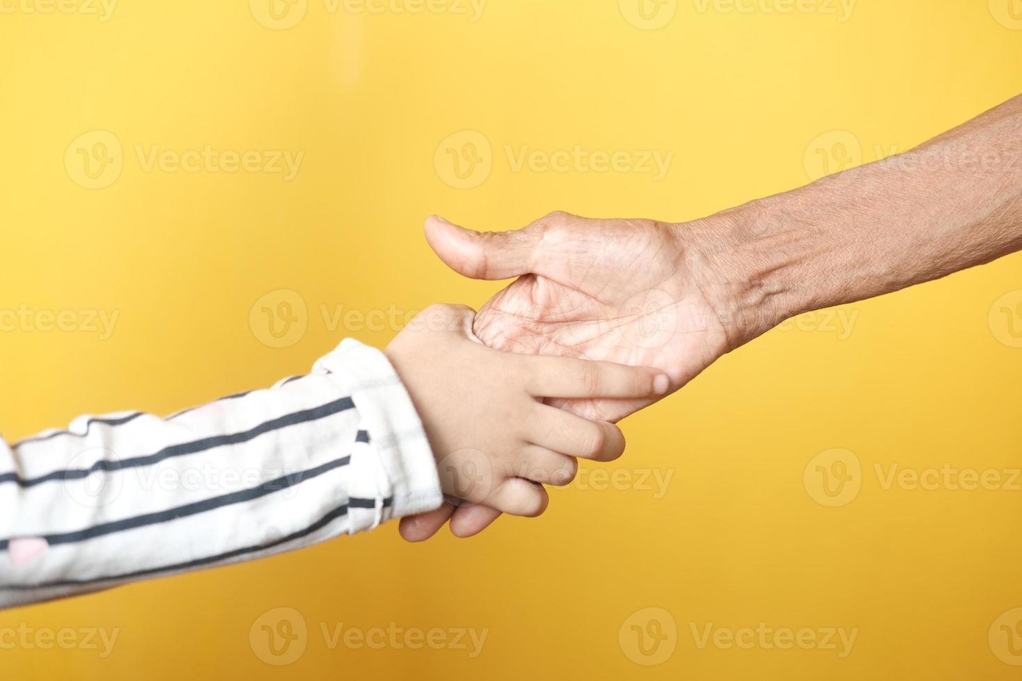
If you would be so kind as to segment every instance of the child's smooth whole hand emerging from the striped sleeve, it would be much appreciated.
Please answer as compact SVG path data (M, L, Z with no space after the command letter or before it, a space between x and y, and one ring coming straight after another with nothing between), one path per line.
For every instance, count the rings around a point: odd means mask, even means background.
M544 398L655 397L668 390L654 369L492 350L472 337L474 312L433 305L385 352L429 438L447 494L515 516L539 516L544 483L567 485L575 457L609 461L620 430L544 403Z

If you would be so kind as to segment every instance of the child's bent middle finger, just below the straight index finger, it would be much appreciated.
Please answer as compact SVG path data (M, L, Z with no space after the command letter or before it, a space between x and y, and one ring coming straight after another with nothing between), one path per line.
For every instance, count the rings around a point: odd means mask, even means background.
M541 447L596 461L612 461L624 453L624 434L617 426L547 404L537 404L525 438Z

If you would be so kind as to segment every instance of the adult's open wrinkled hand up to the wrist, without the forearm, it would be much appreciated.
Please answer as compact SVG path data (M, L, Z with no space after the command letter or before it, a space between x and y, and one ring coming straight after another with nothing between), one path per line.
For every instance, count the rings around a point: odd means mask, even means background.
M513 352L601 359L660 369L678 390L731 349L707 301L702 258L686 248L684 226L649 220L589 220L552 213L523 230L476 233L442 218L426 238L456 272L473 279L519 277L490 300L473 331ZM561 402L579 416L615 422L646 400ZM450 519L471 536L499 514L479 505L402 521L402 535L426 539Z

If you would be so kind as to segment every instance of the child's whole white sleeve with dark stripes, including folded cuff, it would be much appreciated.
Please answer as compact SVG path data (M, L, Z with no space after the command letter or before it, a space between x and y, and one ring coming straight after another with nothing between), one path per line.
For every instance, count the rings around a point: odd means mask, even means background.
M0 607L253 560L437 507L422 424L382 352L159 418L0 440Z

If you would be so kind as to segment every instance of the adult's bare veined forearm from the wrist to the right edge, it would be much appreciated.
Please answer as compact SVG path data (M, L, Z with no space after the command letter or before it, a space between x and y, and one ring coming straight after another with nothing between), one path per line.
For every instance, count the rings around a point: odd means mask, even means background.
M803 311L989 262L1022 249L1022 96L908 153L685 229L735 346Z

